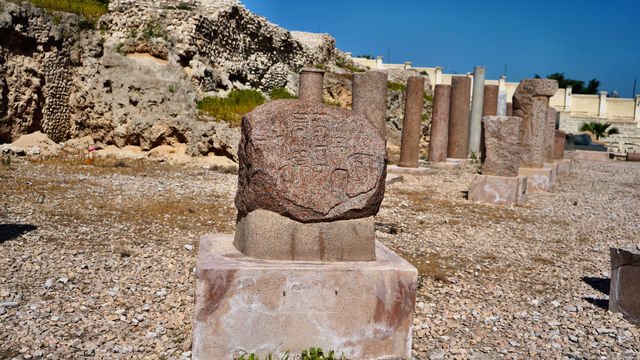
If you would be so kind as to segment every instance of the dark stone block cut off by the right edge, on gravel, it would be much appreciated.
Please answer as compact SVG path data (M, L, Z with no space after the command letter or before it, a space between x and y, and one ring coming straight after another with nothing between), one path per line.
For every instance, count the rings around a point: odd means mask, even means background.
M640 250L610 248L609 310L640 324Z

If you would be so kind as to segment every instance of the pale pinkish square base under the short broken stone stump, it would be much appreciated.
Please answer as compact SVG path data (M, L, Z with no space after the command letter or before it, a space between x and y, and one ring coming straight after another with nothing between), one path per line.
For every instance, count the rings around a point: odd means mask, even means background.
M497 205L524 205L526 176L474 175L469 184L469 200Z

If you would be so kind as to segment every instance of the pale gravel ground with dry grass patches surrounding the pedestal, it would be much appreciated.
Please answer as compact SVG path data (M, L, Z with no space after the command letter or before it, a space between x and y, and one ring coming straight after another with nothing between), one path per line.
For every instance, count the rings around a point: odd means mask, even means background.
M415 358L640 359L606 310L640 163L574 163L524 207L469 203L473 170L405 175L376 220L420 271ZM14 160L0 184L0 359L190 357L195 249L233 231L235 175Z

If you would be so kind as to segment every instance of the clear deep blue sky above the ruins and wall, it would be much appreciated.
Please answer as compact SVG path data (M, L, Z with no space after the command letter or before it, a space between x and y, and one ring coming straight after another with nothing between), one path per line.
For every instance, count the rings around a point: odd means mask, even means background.
M241 0L288 30L329 33L342 51L388 62L487 68L507 81L563 72L632 97L640 77L640 1ZM640 82L640 79L639 79ZM636 93L640 92L640 84Z

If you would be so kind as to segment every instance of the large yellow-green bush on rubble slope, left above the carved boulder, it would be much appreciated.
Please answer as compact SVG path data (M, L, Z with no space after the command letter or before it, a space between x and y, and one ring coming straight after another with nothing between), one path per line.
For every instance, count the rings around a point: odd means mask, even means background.
M264 104L264 96L256 90L234 90L226 98L206 97L198 101L198 109L218 121L239 126L242 115Z

